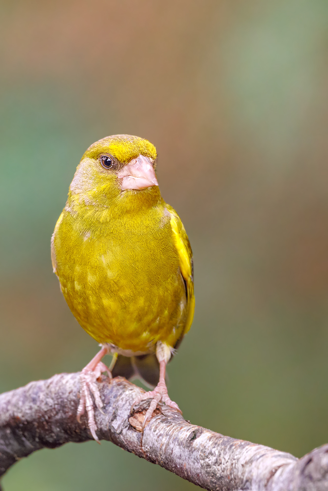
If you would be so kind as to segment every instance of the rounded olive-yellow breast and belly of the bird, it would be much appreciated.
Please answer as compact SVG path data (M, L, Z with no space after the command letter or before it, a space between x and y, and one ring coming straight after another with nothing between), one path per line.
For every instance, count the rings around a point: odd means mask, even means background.
M97 341L145 352L179 336L186 296L165 215L95 224L67 212L54 249L64 297Z

